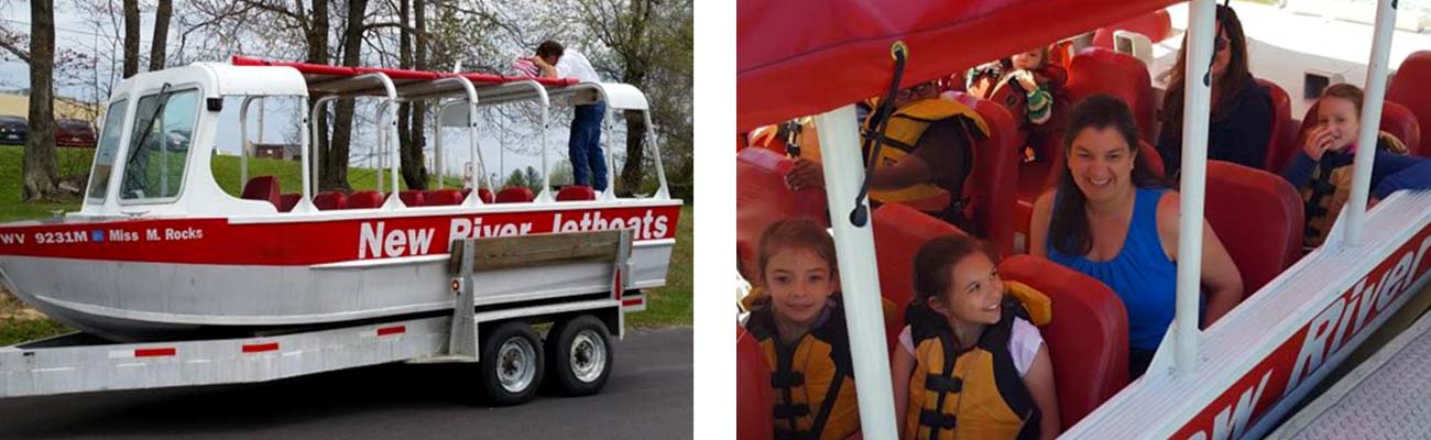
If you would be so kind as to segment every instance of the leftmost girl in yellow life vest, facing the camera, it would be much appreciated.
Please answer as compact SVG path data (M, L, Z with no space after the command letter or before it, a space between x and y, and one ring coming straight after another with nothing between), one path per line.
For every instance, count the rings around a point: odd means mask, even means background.
M834 240L814 220L781 220L760 236L758 264L767 294L751 306L744 326L770 366L774 439L857 434Z

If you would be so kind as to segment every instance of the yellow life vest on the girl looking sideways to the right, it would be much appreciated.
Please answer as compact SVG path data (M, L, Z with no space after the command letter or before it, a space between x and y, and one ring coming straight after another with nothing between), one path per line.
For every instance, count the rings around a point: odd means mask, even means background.
M999 323L960 351L943 316L910 306L914 373L903 439L1036 439L1040 413L1009 353L1015 317L1027 319L1013 297Z

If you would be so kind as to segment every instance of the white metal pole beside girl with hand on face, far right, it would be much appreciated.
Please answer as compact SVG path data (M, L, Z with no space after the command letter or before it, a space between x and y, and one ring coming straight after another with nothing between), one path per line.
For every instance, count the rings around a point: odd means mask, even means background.
M1347 227L1342 243L1347 246L1361 244L1361 230L1367 220L1367 196L1371 193L1371 167L1377 159L1377 133L1381 126L1381 104L1387 96L1387 64L1391 57L1395 20L1394 0L1377 1L1377 27L1371 40L1371 60L1367 61L1365 100L1361 103L1361 131L1357 133L1357 159L1345 209Z

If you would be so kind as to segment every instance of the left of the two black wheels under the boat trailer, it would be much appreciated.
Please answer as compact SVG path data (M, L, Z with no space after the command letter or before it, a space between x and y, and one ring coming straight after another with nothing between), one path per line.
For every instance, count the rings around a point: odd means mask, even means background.
M521 404L537 396L545 363L537 331L522 321L508 321L482 341L482 386L492 403Z

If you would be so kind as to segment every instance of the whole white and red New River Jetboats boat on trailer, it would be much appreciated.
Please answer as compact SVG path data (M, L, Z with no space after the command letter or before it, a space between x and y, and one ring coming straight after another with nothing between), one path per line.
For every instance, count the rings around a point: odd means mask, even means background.
M302 191L279 194L273 176L249 179L245 147L243 197L233 197L210 171L219 114L225 99L233 97L243 99L243 113L256 100L298 97L305 116L309 99L316 106L379 100L378 146L389 156L392 189L399 101L445 100L441 109L465 111L444 117L461 119L467 130L475 130L478 106L501 103L539 101L544 113L548 100L648 110L635 87L565 79L249 57L142 73L110 97L83 209L63 219L0 226L0 279L40 311L114 340L248 334L451 309L451 291L434 286L448 279L448 243L464 237L630 229L628 280L618 281L625 283L627 306L644 306L638 289L665 283L681 201L667 196L657 153L661 189L647 199L590 187L539 194L507 189L495 200L485 189L392 197L398 191L382 193L381 183L379 191L318 193L305 117L302 163L313 173L302 177ZM479 167L477 139L469 131ZM648 144L655 149L654 134ZM475 177L468 180L472 187ZM484 273L477 304L610 296L610 263L564 263Z

